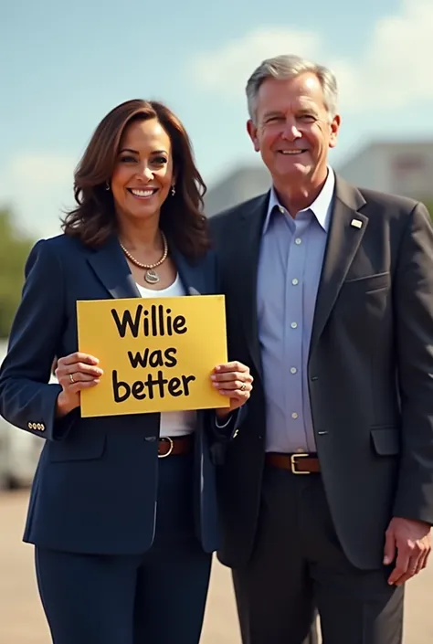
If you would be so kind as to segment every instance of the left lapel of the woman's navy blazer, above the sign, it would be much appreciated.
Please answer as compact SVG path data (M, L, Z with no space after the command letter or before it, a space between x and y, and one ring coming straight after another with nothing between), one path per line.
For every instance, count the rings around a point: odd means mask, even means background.
M88 260L91 268L113 298L140 297L128 262L121 251L119 240L115 236L112 236L103 247L93 251Z

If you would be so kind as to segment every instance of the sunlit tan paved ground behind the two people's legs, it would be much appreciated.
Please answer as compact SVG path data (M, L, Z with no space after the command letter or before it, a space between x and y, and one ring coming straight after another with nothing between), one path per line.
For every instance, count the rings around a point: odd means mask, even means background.
M39 607L32 548L21 543L27 495L0 493L0 642L50 644ZM406 644L433 642L433 564L408 586ZM239 644L227 570L214 566L203 644ZM270 644L270 642L269 642Z

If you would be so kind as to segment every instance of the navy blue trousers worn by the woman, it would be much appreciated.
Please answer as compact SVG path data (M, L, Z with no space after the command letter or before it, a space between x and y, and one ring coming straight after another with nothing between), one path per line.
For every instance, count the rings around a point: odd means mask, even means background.
M53 644L198 644L211 554L193 524L192 457L161 459L156 533L146 553L36 548Z

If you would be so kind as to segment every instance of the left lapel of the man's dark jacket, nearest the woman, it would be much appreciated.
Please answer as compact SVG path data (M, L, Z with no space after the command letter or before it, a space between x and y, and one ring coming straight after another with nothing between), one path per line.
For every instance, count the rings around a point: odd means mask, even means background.
M239 311L249 354L257 369L262 375L259 324L257 319L257 278L259 269L260 241L263 223L268 212L269 193L261 195L255 204L248 205L240 216L240 227L236 242L236 280L238 288Z

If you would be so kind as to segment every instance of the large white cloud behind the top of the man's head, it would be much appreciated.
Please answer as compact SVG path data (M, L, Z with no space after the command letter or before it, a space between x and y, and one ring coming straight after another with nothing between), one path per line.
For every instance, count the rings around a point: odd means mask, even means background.
M432 43L432 0L404 0L377 21L364 51L353 58L333 56L319 32L269 26L202 52L189 71L200 88L242 100L248 76L263 58L296 53L333 69L344 111L395 110L433 100Z

